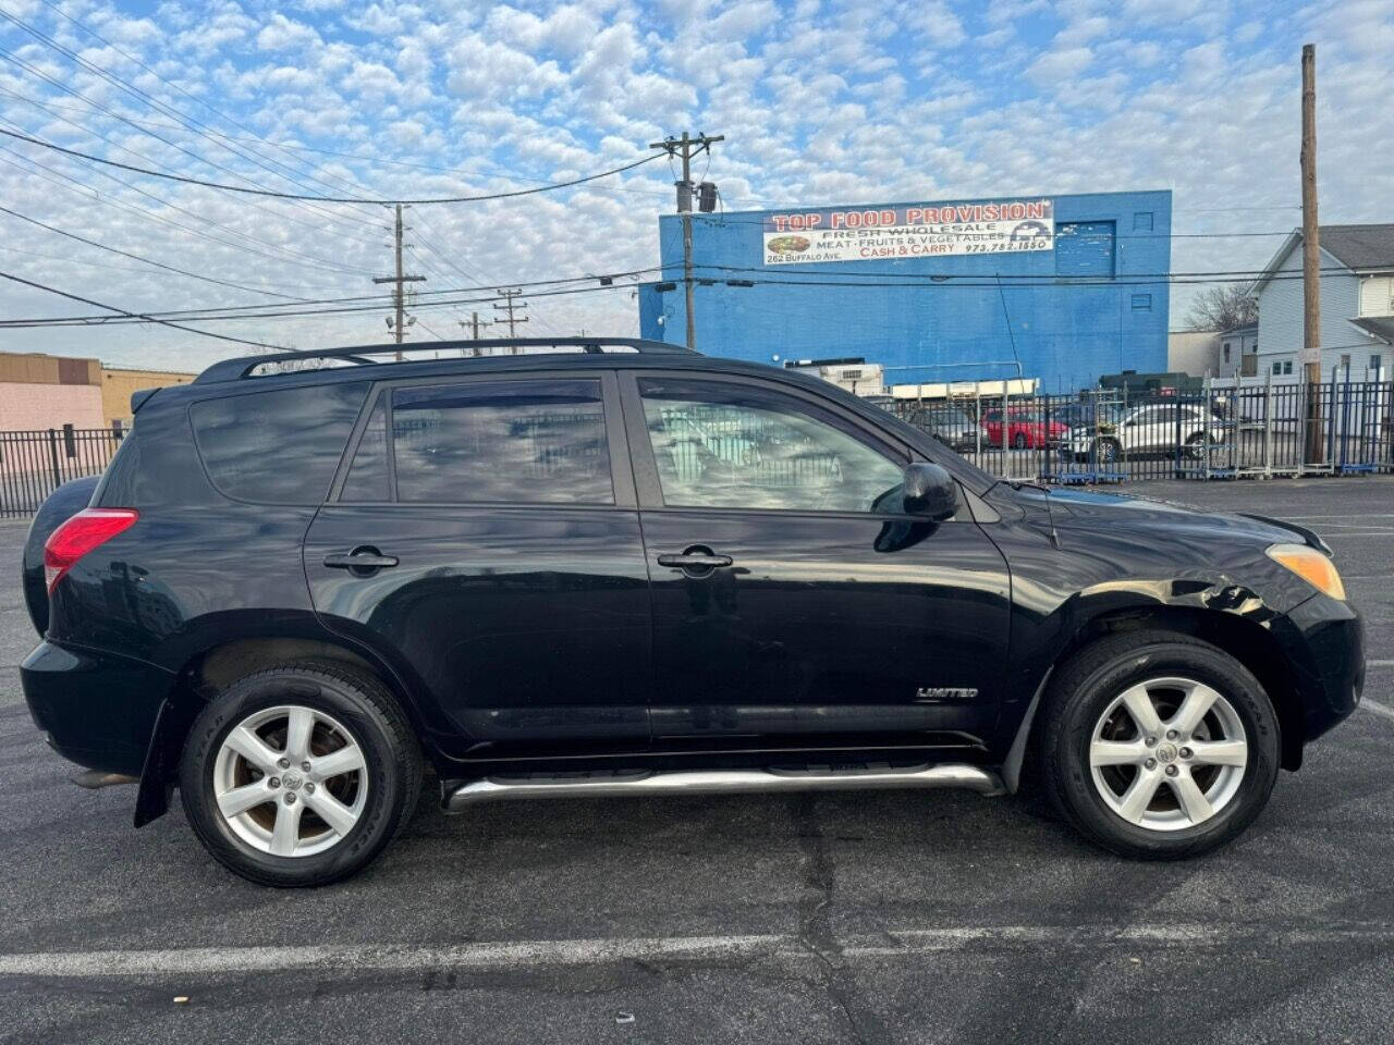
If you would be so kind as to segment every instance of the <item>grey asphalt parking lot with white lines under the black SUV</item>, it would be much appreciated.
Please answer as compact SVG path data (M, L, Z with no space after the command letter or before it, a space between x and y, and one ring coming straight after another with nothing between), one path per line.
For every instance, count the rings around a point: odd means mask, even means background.
M233 878L42 744L0 591L4 1041L1374 1041L1394 1024L1394 478L1140 483L1285 516L1365 612L1366 704L1235 844L1087 849L1023 798L422 801L361 876ZM0 524L14 564L24 524ZM176 1003L176 996L187 998Z

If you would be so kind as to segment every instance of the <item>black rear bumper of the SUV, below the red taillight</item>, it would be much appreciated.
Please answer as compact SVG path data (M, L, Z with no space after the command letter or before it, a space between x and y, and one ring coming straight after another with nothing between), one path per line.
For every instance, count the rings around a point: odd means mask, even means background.
M70 762L139 776L174 674L96 649L43 641L20 665L35 725Z

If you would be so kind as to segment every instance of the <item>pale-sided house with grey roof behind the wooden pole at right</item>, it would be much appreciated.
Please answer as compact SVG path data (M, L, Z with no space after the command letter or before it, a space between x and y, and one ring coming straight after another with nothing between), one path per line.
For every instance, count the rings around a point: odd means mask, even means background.
M1394 373L1394 224L1320 227L1322 373L1388 380ZM1257 376L1301 380L1302 231L1282 241L1253 284Z

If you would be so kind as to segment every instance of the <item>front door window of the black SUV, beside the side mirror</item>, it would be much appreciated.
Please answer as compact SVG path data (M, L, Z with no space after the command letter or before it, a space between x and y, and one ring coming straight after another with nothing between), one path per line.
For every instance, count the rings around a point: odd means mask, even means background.
M744 385L641 380L669 507L873 511L903 465L832 414Z

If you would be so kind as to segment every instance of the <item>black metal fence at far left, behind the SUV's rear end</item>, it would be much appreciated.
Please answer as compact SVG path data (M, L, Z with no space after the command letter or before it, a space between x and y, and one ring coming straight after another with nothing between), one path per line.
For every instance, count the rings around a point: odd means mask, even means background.
M0 518L32 516L68 479L98 475L121 444L118 428L0 432Z

